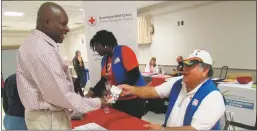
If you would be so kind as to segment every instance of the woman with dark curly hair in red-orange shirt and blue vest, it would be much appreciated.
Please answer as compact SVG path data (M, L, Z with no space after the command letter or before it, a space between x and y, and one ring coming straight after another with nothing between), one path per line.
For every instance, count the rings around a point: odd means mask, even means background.
M134 51L125 45L118 45L112 32L98 31L90 41L90 47L100 56L101 79L90 89L86 96L95 97L104 95L112 85L128 84L145 86L143 76L139 71L139 64ZM137 118L144 114L146 100L136 96L119 97L113 108L125 112Z

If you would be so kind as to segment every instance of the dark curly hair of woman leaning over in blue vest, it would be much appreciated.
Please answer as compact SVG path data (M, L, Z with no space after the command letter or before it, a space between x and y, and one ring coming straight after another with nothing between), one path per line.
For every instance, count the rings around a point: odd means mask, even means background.
M93 38L90 40L90 47L95 51L95 44L99 43L103 47L109 46L114 47L118 45L117 39L113 35L112 32L109 32L107 30L100 30L98 31Z

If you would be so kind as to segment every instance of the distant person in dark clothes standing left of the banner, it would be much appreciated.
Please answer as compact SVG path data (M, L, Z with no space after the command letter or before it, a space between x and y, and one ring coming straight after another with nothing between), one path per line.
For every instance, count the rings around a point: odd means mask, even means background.
M77 73L77 79L79 81L80 87L82 88L85 85L85 66L84 61L81 57L81 52L77 50L75 52L75 57L73 58L74 70Z

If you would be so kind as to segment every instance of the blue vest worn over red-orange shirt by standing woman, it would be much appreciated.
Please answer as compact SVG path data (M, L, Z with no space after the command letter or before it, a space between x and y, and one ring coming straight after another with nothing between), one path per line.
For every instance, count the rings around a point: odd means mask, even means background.
M119 62L115 62L115 60L119 58ZM107 56L104 56L102 59L102 69L104 68L105 64L107 62ZM112 56L112 75L114 78L114 81L117 85L122 84L126 79L126 69L123 66L123 61L122 61L122 46L115 46L114 51L113 51L113 56ZM143 76L140 73L140 77L137 80L135 86L145 86L145 80Z

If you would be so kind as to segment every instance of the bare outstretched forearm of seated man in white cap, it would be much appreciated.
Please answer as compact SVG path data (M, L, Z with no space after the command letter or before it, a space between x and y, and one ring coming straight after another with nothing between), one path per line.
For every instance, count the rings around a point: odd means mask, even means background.
M133 87L131 94L143 99L159 98L158 93L152 86Z

